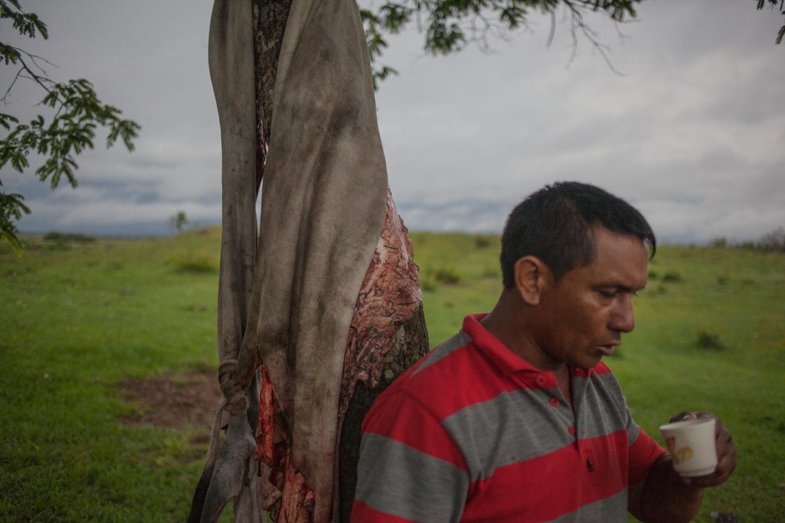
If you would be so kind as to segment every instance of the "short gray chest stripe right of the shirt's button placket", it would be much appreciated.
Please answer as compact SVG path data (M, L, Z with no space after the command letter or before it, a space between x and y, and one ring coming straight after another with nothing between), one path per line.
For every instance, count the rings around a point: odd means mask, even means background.
M589 439L625 430L630 419L626 403L614 376L592 374L589 379L571 379L572 394L576 405L580 405L579 437Z

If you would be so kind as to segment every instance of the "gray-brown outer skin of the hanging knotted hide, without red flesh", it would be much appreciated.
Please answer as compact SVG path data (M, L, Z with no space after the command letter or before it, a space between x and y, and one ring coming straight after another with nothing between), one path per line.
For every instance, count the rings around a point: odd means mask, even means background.
M354 0L292 2L276 75L254 269L254 236L248 240L255 183L249 134L256 123L251 37L250 2L216 0L210 74L223 154L219 354L238 360L234 375L221 381L245 386L263 362L280 437L313 492L312 520L326 522L336 494L347 334L388 207L370 60ZM251 385L249 397L258 394ZM257 409L252 405L249 419ZM250 459L249 433L250 426L237 426L221 442L221 448L240 449L232 454L235 462L240 455ZM216 455L200 480L202 506L210 510L192 507L192 518L198 514L201 521L214 521L214 509L234 496L243 506L259 504L247 501L261 492L256 467L246 463L243 474L228 474L237 464L222 463L220 449ZM217 484L219 478L224 484Z

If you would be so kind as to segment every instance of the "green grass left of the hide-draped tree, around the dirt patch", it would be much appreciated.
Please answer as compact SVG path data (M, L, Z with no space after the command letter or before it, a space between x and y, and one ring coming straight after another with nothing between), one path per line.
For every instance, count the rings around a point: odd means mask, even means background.
M184 520L204 429L121 425L115 383L217 368L217 274L166 258L219 235L0 254L0 521Z

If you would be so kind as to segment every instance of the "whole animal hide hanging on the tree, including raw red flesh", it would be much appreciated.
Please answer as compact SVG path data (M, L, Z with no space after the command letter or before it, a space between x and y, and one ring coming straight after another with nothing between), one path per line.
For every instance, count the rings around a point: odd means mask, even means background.
M273 510L279 521L327 523L336 518L337 449L355 384L378 383L400 327L422 315L411 242L387 186L355 1L292 2L255 269L248 0L215 1L210 75L223 154L219 379L229 415L220 444L217 417L188 521L215 521L236 498L235 521L261 523L261 510Z

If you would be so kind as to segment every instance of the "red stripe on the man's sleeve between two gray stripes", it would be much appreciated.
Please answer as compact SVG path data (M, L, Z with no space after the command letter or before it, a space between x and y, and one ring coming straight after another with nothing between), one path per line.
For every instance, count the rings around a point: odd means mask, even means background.
M461 451L439 420L406 393L380 397L363 422L363 433L389 437L466 470Z

